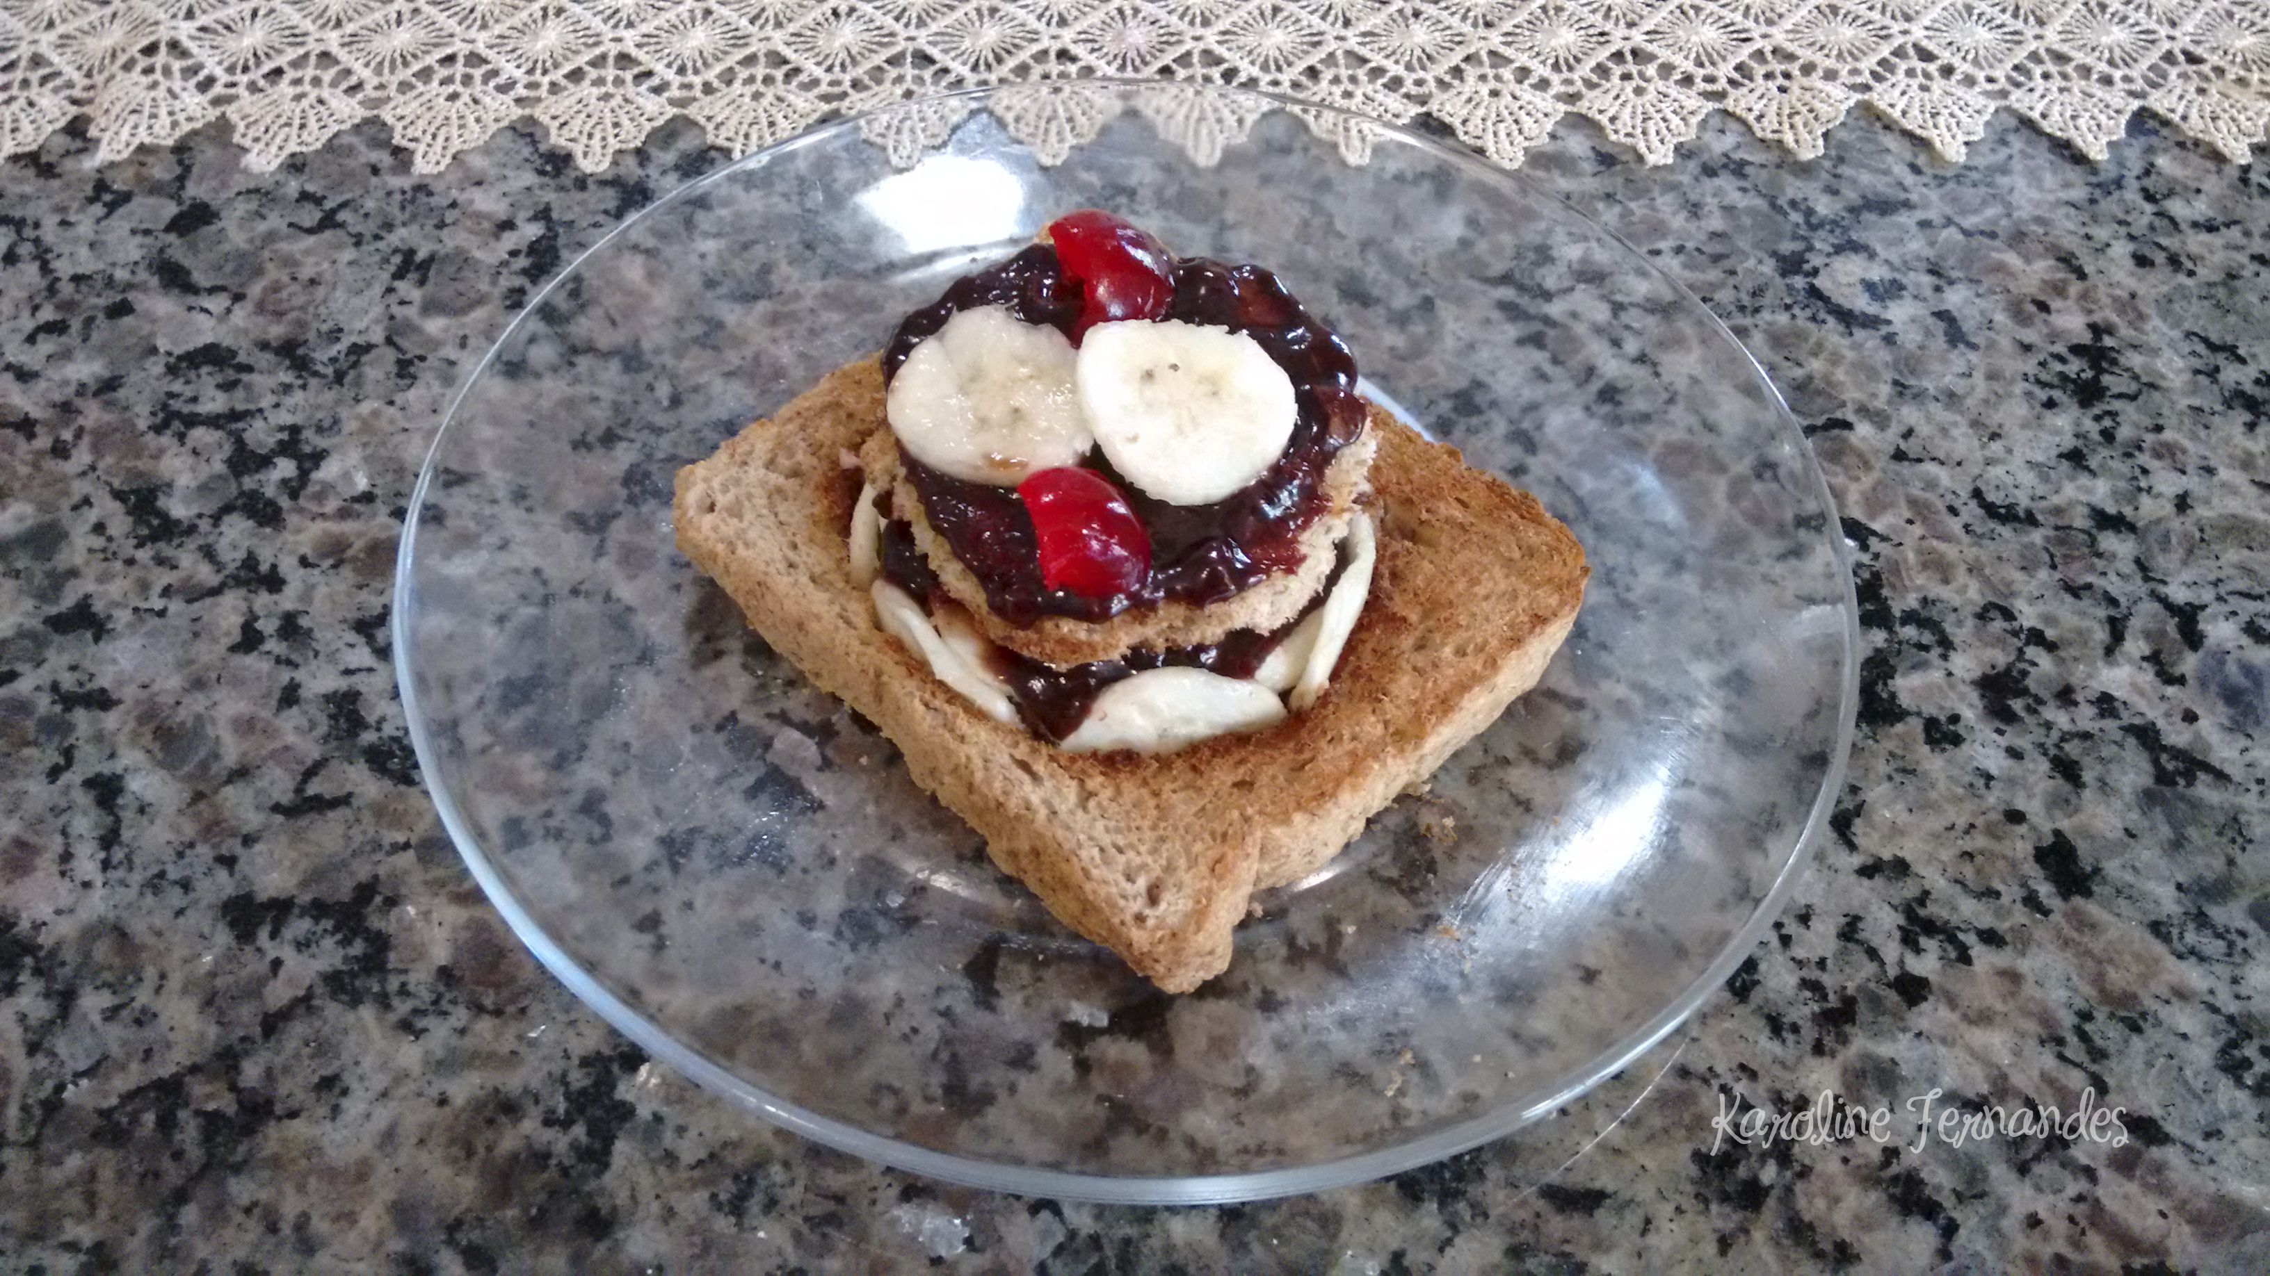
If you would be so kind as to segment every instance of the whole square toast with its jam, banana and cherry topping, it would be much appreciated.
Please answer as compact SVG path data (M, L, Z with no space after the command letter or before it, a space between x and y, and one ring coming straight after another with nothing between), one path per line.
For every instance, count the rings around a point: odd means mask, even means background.
M1108 213L676 477L676 538L1067 926L1169 992L1537 683L1584 554L1255 266Z

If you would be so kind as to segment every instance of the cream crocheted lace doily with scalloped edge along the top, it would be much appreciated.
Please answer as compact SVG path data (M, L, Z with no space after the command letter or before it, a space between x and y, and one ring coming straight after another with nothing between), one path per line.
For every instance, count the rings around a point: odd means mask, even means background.
M1564 114L1664 163L1712 109L1800 157L1866 102L1950 159L2009 107L2102 159L2147 109L2243 161L2270 127L2263 0L0 0L0 157L86 116L104 159L213 118L252 168L368 116L420 173L533 116L588 170L683 114L747 152L1006 82L1167 77L1403 123L1521 163ZM1251 120L1144 111L1196 154ZM1108 100L994 107L1044 154ZM901 154L953 109L894 111ZM1360 123L1310 120L1351 157Z

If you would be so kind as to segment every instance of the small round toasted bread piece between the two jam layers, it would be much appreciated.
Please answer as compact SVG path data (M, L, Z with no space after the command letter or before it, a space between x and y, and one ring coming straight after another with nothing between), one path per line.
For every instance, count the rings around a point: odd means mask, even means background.
M881 372L876 375L874 397L878 404L883 402ZM947 540L922 513L922 497L915 495L913 479L899 465L899 440L883 425L881 409L876 409L876 429L860 445L858 456L860 468L874 479L876 490L890 493L892 513L913 527L915 545L931 563L931 570L938 572L938 584L953 595L953 602L969 611L978 631L1019 656L1031 656L1062 670L1090 661L1112 661L1135 647L1158 649L1221 643L1237 629L1269 631L1301 615L1301 608L1323 588L1323 579L1332 574L1332 563L1339 561L1332 547L1348 534L1348 518L1355 513L1355 502L1369 490L1364 475L1378 447L1378 427L1394 420L1378 406L1371 409L1371 429L1332 456L1332 463L1323 470L1323 515L1301 531L1298 568L1278 572L1212 606L1162 602L1158 606L1124 611L1103 622L1044 615L1033 624L1017 627L994 615L985 606L985 586L953 556L953 549L947 547Z

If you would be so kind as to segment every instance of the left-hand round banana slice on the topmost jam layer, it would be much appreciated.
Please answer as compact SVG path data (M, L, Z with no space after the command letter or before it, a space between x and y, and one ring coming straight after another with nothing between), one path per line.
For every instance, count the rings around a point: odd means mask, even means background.
M924 465L1015 486L1078 465L1094 436L1074 391L1071 341L1008 307L958 311L917 345L883 395L892 434Z

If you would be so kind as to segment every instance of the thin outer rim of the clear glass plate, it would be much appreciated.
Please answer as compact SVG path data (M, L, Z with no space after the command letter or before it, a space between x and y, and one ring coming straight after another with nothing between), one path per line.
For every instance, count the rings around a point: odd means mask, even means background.
M520 899L511 892L504 876L497 872L495 863L490 863L488 851L472 836L463 813L459 811L456 797L447 790L447 786L431 779L434 774L438 774L436 770L438 754L436 745L429 738L431 736L429 720L418 708L418 690L413 686L413 670L411 670L413 647L409 643L411 613L415 608L415 599L411 595L411 563L418 545L418 522L420 522L418 513L424 506L427 488L434 481L436 461L440 459L440 445L449 434L449 425L456 422L459 409L465 404L465 397L488 372L490 363L495 363L497 352L504 350L504 345L520 331L520 327L531 320L531 316L538 311L538 307L545 304L545 300L554 293L554 288L558 288L565 279L574 277L577 270L581 270L590 257L608 247L617 236L627 234L631 227L645 223L649 216L672 209L679 202L699 195L704 188L731 175L745 173L749 168L763 168L765 163L783 154L792 154L819 141L833 138L842 132L860 132L867 120L894 111L919 109L931 102L976 100L978 104L983 104L985 98L992 98L1003 89L1031 91L1049 86L1065 86L1065 89L1101 86L1121 91L1174 89L1192 93L1219 93L1230 98L1262 100L1264 111L1276 109L1276 111L1319 114L1328 118L1355 120L1367 127L1380 129L1382 136L1392 136L1401 143L1419 148L1421 152L1439 161L1453 163L1460 170L1476 175L1489 184L1512 186L1521 191L1525 198L1550 202L1553 207L1559 209L1559 213L1575 218L1594 234L1600 234L1603 238L1621 247L1625 254L1630 254L1632 261L1637 261L1657 279L1668 284L1678 297L1682 297L1696 311L1700 311L1709 320L1709 327L1716 329L1716 334L1741 354L1757 386L1764 388L1773 415L1780 418L1782 429L1789 431L1789 436L1798 443L1805 479L1809 479L1811 495L1816 497L1818 506L1827 513L1827 527L1823 529L1823 536L1827 536L1830 554L1834 559L1834 568L1843 593L1843 652L1839 670L1841 702L1836 708L1836 738L1834 745L1830 747L1830 761L1821 774L1821 783L1814 792L1811 808L1807 811L1805 824L1798 831L1798 840L1791 847L1789 858L1775 874L1773 883L1766 888L1764 897L1759 897L1757 906L1750 910L1748 920L1743 920L1741 929L1725 942L1725 947L1721 947L1721 951L1709 960L1709 965L1705 965L1702 972L1693 981L1689 981L1680 990L1680 994L1673 997L1650 1019L1641 1022L1637 1029L1619 1038L1612 1047L1594 1056L1589 1063L1562 1072L1555 1081L1541 1085L1535 1092L1535 1097L1523 1103L1507 1103L1489 1113L1469 1117L1464 1122L1444 1126L1416 1140L1396 1142L1389 1147L1360 1151L1351 1156L1339 1156L1332 1160L1273 1167L1273 1169L1253 1169L1239 1174L1194 1174L1194 1176L1115 1176L1115 1174L1085 1174L1085 1172L1051 1169L1035 1165L1006 1165L951 1151L935 1151L890 1135L878 1135L858 1128L849 1122L813 1113L810 1108L804 1108L794 1101L788 1101L779 1094L772 1094L735 1076L724 1065L711 1060L706 1053L676 1040L667 1029L647 1019L638 1008L633 1008L620 994L599 983L588 969L583 969L581 963L577 963L568 951L563 951L549 938L549 933L545 933L543 924L536 922L536 917L527 913ZM953 136L953 129L962 127L967 116L969 114L965 111L962 118L956 120L947 138ZM881 148L881 143L874 143L872 138L869 145ZM942 145L942 141L935 145ZM935 145L926 150L935 150ZM1836 509L1836 493L1830 488L1827 475L1821 470L1821 459L1814 454L1811 438L1805 436L1805 429L1798 422L1796 413L1789 409L1789 402L1782 397L1780 386L1775 386L1773 377L1766 372L1764 363L1759 363L1757 354L1750 352L1750 347L1725 325L1725 320L1714 309L1709 309L1702 302L1702 297L1698 297L1691 288L1687 288L1684 282L1673 277L1668 270L1657 266L1628 238L1600 225L1589 213L1571 204L1566 198L1546 191L1541 184L1537 184L1535 179L1525 177L1519 170L1500 168L1482 159L1480 154L1476 154L1464 145L1428 136L1407 125L1385 123L1371 116L1362 116L1339 107L1326 107L1321 102L1308 102L1303 98L1292 98L1285 93L1269 93L1260 89L1224 86L1224 84L1176 82L1176 79L1076 77L1076 79L1051 79L1035 84L997 84L981 89L958 89L951 93L933 93L924 98L910 98L903 102L890 102L883 107L842 116L838 120L810 127L792 138L729 159L717 168L679 184L676 188L656 198L654 202L638 209L629 218L615 223L604 236L592 241L590 247L579 252L552 279L547 279L543 288L529 295L520 313L515 313L513 320L504 325L504 329L488 345L481 359L474 361L472 370L459 384L456 393L449 395L449 404L447 409L443 409L440 427L434 431L434 443L427 447L424 461L420 461L418 465L418 481L411 488L409 506L404 509L402 515L402 538L395 547L395 584L388 595L388 602L390 602L388 640L393 645L390 658L395 665L395 690L402 699L402 715L411 738L411 749L418 756L420 786L434 801L434 811L440 817L443 831L447 831L452 847L456 847L459 856L465 861L465 867L472 872L472 879L481 885L481 895L488 897L488 904L504 917L504 924L511 926L513 935L536 956L536 960L543 963L543 967L549 969L554 979L568 985L568 990L579 1001L597 1010L602 1019L606 1019L622 1035L638 1042L638 1047L645 1049L649 1056L667 1063L670 1067L674 1067L704 1090L711 1090L713 1094L720 1094L731 1103L781 1128L804 1135L813 1142L858 1156L863 1160L888 1165L892 1169L906 1169L931 1178L960 1183L967 1187L985 1187L994 1192L1010 1192L1022 1197L1049 1197L1062 1201L1094 1201L1094 1203L1124 1203L1124 1206L1212 1206L1233 1201L1264 1201L1273 1197L1292 1197L1305 1192L1323 1192L1330 1187L1346 1187L1353 1183L1369 1183L1373 1178L1385 1178L1389 1174L1401 1174L1405 1169L1432 1165L1448 1156L1471 1151L1485 1142L1500 1140L1519 1131L1521 1126L1528 1126L1550 1115L1555 1108L1582 1097L1603 1081L1616 1076L1632 1060L1637 1060L1657 1042L1662 1042L1668 1033L1673 1033L1680 1024L1691 1019L1702 1008L1702 1004L1709 1001L1712 992L1716 992L1734 974L1734 969L1750 958L1750 954L1757 949L1757 942L1764 938L1766 929L1773 924L1775 917L1780 917L1782 906L1789 901L1789 895L1796 888L1798 879L1802 876L1805 865L1811 861L1816 847L1821 845L1821 838L1830 824L1830 815L1836 811L1836 799L1843 795L1846 767L1850 763L1852 736L1859 717L1859 595L1852 581L1852 547L1843 536L1843 518L1841 511Z

